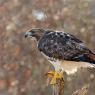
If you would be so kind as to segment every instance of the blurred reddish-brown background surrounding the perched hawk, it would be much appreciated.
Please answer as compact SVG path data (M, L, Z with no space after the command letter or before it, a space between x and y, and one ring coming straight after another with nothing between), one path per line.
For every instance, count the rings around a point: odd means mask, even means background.
M0 95L51 95L45 73L53 67L24 38L35 27L64 29L95 52L95 0L0 0ZM85 85L85 95L95 95L94 69L66 75L64 95Z

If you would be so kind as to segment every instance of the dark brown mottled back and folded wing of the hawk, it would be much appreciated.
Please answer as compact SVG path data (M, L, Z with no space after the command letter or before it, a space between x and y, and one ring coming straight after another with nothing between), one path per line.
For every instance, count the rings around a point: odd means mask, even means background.
M39 40L38 49L50 58L95 64L95 54L81 40L69 33L45 32Z

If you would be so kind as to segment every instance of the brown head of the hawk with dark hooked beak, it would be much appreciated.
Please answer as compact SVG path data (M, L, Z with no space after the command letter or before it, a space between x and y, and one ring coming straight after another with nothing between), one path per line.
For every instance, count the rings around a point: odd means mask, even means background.
M36 38L38 41L44 34L45 30L44 29L32 29L28 32L25 33L25 38Z

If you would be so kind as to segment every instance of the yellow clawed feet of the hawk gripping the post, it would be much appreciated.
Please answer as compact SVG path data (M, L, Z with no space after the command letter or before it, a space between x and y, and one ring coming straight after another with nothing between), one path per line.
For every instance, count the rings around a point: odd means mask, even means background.
M58 84L60 81L62 84L64 84L64 79L63 79L63 71L60 72L55 72L55 71L50 71L46 74L46 76L51 79L50 84L55 85Z

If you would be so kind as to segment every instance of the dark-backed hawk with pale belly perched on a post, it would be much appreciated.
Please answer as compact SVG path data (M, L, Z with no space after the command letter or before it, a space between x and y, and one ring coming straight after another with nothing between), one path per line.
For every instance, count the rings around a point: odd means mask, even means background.
M72 74L80 67L87 68L95 65L95 54L72 34L35 28L26 32L26 37L36 39L39 51L55 68L55 78L62 77L61 71ZM54 74L54 72L50 73ZM51 84L56 82L54 79Z

